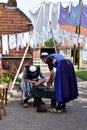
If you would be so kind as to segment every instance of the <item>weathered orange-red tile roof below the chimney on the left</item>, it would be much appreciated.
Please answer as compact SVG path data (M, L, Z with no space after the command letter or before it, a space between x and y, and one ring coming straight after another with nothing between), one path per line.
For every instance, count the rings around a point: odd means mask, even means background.
M29 27L31 20L19 8L0 3L0 34L27 32Z

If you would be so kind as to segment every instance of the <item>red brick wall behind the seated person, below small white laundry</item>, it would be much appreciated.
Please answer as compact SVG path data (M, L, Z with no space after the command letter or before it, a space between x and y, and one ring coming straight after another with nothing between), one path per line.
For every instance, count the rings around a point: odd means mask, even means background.
M17 51L16 49L12 49L10 50L9 54L6 54L6 55L2 55L2 66L4 69L7 69L8 66L6 65L6 62L8 61L11 61L13 62L13 64L15 65L16 69L18 69L19 65L20 65L20 62L23 58L23 55L24 55L24 52L25 52L25 49L26 48L23 48L23 49L19 49L19 51ZM21 71L23 70L24 66L26 64L32 64L32 49L29 49L27 51L27 54L25 56L25 59L24 59L24 62L23 62L23 65L22 65L22 68L21 68ZM15 72L16 73L16 70Z

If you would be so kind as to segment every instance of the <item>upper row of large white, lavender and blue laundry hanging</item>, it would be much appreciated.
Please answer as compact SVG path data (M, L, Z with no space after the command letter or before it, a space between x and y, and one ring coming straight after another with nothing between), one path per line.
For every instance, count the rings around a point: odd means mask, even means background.
M38 13L39 8L35 12L29 12L29 17L33 26L37 19ZM82 2L78 3L77 6L70 4L66 7L63 7L61 2L60 4L56 3L52 5L50 2L45 3L39 17L37 32L40 33L43 26L46 27L49 24L49 21L51 21L52 29L55 29L58 23L61 25L71 25L74 27L81 25L87 28L86 19L87 7Z

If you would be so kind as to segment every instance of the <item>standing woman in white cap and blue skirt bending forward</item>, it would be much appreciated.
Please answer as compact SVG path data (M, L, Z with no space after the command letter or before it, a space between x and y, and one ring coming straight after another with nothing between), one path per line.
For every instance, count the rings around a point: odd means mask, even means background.
M41 59L48 64L50 76L47 86L54 81L55 97L58 105L52 109L53 112L63 112L66 110L66 103L74 100L78 96L77 80L73 64L61 54L48 54L43 52ZM56 73L54 72L56 68Z

